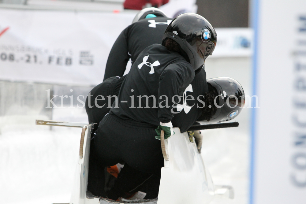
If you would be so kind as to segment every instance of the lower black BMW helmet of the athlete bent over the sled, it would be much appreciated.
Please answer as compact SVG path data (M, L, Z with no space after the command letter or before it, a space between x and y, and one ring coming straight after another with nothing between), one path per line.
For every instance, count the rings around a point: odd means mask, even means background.
M229 77L217 77L207 80L209 92L216 91L211 106L216 105L216 111L207 121L205 109L210 109L205 104L202 116L197 120L200 123L213 124L232 120L237 117L244 107L245 95L242 86L236 80ZM208 107L206 107L208 106ZM221 107L222 106L222 107Z

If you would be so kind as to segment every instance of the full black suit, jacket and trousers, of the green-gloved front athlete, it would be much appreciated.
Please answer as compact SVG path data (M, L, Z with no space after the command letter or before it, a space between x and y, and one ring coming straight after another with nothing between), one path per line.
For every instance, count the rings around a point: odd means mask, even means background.
M113 103L110 114L102 119L91 140L91 155L95 157L95 164L99 168L119 162L124 162L127 168L121 170L121 176L119 174L114 187L106 194L102 189L103 182L92 185L93 179L89 179L88 185L96 186L91 189L100 186L96 194L117 199L152 175L160 179L164 162L160 141L155 139L155 128L160 121L167 123L172 120L174 103L171 99L174 95L183 95L193 78L194 70L190 63L162 45L154 44L139 54L120 88L119 107L116 108L116 103ZM139 103L137 96L144 95L151 97L148 100L140 98ZM168 104L166 96L169 98ZM168 106L162 108L159 104ZM157 195L158 191L151 196Z

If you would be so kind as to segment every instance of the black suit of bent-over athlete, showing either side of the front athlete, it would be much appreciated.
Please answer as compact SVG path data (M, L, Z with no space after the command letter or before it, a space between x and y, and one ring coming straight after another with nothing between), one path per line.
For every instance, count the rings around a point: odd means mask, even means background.
M85 109L88 115L88 122L89 123L96 123L99 124L100 121L103 119L103 117L109 113L110 108L108 104L108 97L107 96L113 96L116 95L118 96L119 90L121 87L121 84L123 80L125 79L127 75L119 78L119 77L110 77L107 80L103 81L103 83L100 83L96 87L94 87L90 91L91 95L91 100L90 100L90 107L88 104L88 98L86 98L85 102ZM185 132L188 130L192 124L195 123L195 121L201 116L202 114L202 109L203 108L203 95L205 92L208 91L207 87L207 82L206 82L206 72L204 69L202 69L199 73L197 73L191 83L191 88L192 91L187 91L186 95L188 96L187 98L181 98L181 102L179 103L180 105L183 105L184 102L186 103L187 106L192 106L190 110L183 109L180 113L174 114L174 117L172 119L172 124L173 127L178 127L180 128L181 132ZM95 105L95 98L101 99L102 97L99 96L102 95L105 100L97 100L97 105L98 106L103 106L103 107L97 107ZM191 100L192 97L194 100ZM199 97L199 98L198 98ZM138 99L138 98L137 98ZM186 100L188 99L188 100ZM135 99L134 99L135 100ZM201 100L201 101L200 101ZM112 97L110 98L110 104L113 104L115 101L115 98ZM175 112L177 110L174 109ZM94 131L97 127L97 125L94 126Z

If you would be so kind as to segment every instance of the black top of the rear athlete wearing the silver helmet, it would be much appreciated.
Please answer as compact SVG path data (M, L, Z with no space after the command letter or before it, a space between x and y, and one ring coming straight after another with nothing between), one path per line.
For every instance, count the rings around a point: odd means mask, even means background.
M115 41L107 59L104 80L111 76L123 76L126 64L132 63L147 46L162 43L162 35L172 18L155 17L141 19L125 28Z

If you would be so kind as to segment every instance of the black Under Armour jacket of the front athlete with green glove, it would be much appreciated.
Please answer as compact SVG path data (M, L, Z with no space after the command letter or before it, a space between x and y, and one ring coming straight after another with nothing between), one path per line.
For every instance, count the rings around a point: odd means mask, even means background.
M155 126L170 122L174 117L173 96L183 95L194 75L191 64L180 54L160 44L151 45L132 65L119 91L119 108L113 108L113 103L110 113Z

